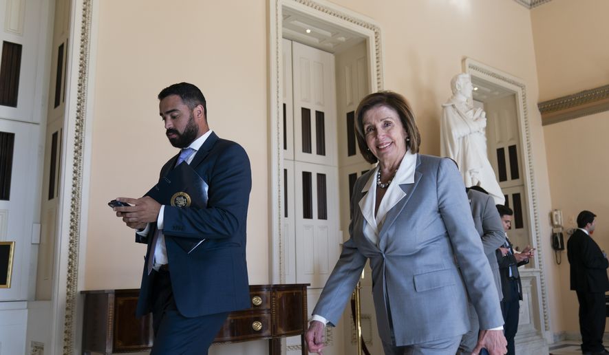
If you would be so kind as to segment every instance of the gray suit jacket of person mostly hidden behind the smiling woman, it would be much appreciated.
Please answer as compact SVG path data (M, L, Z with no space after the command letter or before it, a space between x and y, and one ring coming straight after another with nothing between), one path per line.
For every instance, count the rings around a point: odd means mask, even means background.
M501 301L503 299L501 276L499 275L499 263L495 256L495 250L505 244L505 232L501 223L501 217L495 207L495 200L490 195L480 191L469 190L467 191L467 197L469 198L473 225L476 226L476 230L478 230L478 234L482 239L484 254L487 255L489 260L499 300Z

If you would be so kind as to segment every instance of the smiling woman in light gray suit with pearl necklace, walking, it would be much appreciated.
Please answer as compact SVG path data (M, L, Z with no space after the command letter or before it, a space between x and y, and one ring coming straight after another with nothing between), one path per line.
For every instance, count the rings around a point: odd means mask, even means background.
M362 100L356 136L363 157L378 164L355 184L350 239L313 310L309 351L321 354L323 327L339 321L370 259L385 354L455 354L468 297L482 330L474 352L504 354L497 289L455 164L418 153L414 114L394 92Z

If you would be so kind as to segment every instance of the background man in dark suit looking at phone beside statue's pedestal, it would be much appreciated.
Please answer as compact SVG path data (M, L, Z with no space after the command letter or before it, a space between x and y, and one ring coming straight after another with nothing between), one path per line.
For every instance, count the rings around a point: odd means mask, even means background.
M508 342L507 349L509 355L515 354L514 337L518 331L518 316L520 313L520 301L522 301L522 283L518 266L528 263L528 259L535 255L535 249L527 246L522 252L515 252L512 248L507 231L512 226L511 208L498 204L497 211L503 222L506 243L497 249L497 261L499 263L499 274L501 276L501 288L503 299L501 301L501 311L503 312L503 325L505 339Z

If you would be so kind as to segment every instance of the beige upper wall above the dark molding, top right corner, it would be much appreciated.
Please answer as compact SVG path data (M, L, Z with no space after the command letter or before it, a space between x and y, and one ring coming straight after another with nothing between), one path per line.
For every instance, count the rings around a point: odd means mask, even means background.
M606 0L553 0L531 10L539 99L609 83Z

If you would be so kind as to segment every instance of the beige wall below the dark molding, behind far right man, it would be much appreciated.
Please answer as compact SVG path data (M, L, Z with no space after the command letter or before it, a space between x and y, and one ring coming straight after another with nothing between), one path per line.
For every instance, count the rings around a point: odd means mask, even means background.
M562 210L565 228L577 227L580 211L595 213L597 228L592 237L602 250L609 250L609 202L605 193L609 176L605 156L609 151L609 112L548 125L544 131L553 208ZM577 334L578 303L575 291L569 290L566 251L562 252L562 259L559 273L564 330Z

